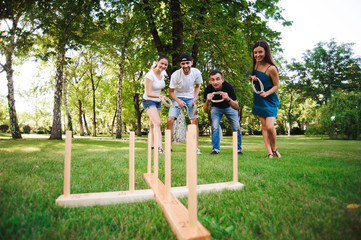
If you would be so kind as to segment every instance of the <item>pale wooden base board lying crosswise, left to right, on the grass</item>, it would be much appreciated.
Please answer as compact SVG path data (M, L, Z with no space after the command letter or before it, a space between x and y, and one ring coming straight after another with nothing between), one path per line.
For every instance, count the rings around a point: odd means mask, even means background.
M147 174L145 174L147 175ZM242 183L224 182L197 185L197 194L208 192L221 192L224 190L239 190L243 188ZM172 187L171 193L175 197L188 196L187 187ZM135 190L133 193L129 191L119 192L97 192L97 193L79 193L70 194L65 198L60 195L55 203L62 207L87 207L96 205L110 205L119 203L143 202L154 200L154 192L151 189Z

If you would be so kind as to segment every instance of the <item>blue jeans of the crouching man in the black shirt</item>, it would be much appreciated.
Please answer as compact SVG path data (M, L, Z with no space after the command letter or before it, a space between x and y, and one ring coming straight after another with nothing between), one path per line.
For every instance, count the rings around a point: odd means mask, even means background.
M237 148L238 152L242 151L242 132L241 125L239 124L238 112L232 107L218 108L212 107L211 118L212 118L212 147L216 152L220 151L220 139L219 139L219 125L221 123L222 116L226 115L228 118L233 132L237 132Z

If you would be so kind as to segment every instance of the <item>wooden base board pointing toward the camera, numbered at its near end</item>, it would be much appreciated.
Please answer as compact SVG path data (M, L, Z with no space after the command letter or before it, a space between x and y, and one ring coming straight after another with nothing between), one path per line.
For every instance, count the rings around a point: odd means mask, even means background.
M189 224L188 209L173 194L166 194L162 181L153 173L145 173L143 177L153 189L155 200L178 239L211 239L211 234L199 221L195 226Z

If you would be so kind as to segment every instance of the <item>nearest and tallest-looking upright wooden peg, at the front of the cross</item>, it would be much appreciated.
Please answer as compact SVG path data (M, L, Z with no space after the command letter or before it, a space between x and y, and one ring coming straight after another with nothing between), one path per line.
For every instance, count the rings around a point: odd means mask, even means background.
M189 225L194 230L197 225L197 126L188 125L187 134L187 180ZM189 165L189 166L188 166Z

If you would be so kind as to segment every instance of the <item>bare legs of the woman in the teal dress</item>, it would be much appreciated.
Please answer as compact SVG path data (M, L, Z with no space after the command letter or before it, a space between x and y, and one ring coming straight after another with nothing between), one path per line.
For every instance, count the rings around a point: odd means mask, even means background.
M276 118L275 117L259 117L262 123L262 135L263 141L266 145L267 153L273 155L273 151L276 151L276 129L274 127ZM277 152L278 157L281 155Z

